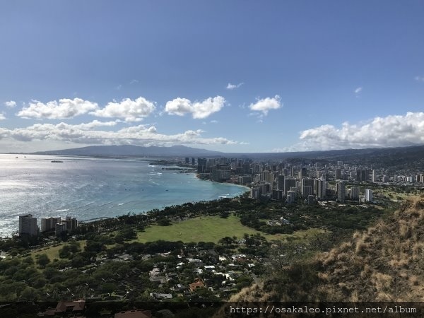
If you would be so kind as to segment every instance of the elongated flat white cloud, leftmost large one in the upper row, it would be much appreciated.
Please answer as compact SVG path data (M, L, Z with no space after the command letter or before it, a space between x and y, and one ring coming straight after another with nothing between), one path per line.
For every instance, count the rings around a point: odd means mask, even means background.
M66 119L97 109L98 104L96 102L81 98L74 98L73 100L63 98L59 102L52 100L47 102L47 104L33 100L28 107L23 107L17 116L23 118Z

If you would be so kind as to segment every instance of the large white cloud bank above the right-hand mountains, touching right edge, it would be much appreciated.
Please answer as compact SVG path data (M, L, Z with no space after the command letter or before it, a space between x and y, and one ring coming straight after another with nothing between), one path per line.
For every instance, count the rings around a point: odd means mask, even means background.
M424 112L375 117L361 124L322 125L300 134L297 150L382 148L424 144Z

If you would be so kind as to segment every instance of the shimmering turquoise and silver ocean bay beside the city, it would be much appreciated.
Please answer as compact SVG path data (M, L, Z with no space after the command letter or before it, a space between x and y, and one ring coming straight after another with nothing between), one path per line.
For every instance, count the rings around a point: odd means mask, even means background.
M18 157L18 158L16 158ZM63 163L52 163L61 160ZM102 216L142 213L185 202L237 196L245 187L197 179L141 159L0 155L0 232L18 230L18 216Z

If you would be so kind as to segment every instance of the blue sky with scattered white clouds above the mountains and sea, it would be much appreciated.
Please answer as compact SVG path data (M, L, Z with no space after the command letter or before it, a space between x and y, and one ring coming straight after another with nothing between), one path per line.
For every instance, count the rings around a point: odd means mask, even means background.
M0 1L0 152L424 144L424 1Z

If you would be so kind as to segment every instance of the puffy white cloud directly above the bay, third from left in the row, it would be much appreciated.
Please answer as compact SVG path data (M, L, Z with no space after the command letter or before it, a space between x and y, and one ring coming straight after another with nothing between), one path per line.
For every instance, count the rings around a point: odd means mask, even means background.
M219 112L224 105L225 98L222 96L207 98L203 102L192 102L187 98L175 98L166 103L165 112L178 116L192 114L194 119L204 119L214 112Z

